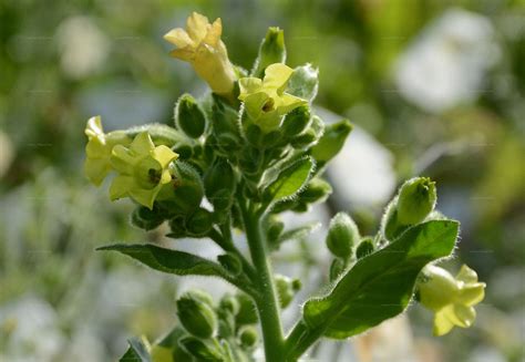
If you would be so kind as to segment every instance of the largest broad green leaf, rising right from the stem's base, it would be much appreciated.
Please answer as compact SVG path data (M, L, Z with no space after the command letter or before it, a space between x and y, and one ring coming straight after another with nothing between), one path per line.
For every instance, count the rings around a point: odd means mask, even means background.
M360 259L327 296L306 302L308 330L346 339L401 313L421 269L452 252L457 230L459 223L452 220L420 224Z

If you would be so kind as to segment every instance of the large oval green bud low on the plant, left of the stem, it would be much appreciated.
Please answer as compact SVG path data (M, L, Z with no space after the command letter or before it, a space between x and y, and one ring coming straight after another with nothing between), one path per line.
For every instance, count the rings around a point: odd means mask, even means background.
M199 338L209 338L217 330L217 316L200 296L193 292L183 294L177 300L177 316L184 329Z

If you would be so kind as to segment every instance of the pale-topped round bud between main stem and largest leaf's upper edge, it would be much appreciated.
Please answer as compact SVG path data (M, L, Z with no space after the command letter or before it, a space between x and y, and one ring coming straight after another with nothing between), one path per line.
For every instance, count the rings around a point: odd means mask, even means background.
M330 221L327 235L327 247L337 257L349 259L352 247L359 240L359 230L346 213L338 213Z

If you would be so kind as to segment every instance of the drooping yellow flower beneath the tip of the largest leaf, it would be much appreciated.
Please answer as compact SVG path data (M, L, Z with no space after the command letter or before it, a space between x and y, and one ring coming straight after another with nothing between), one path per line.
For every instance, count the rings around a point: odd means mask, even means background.
M485 283L474 270L463 265L452 277L449 271L428 266L418 283L421 303L435 312L434 334L449 333L454 325L469 328L476 318L474 306L485 297Z

